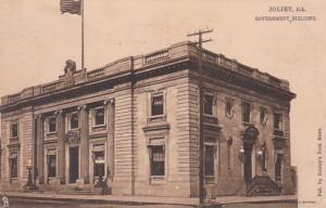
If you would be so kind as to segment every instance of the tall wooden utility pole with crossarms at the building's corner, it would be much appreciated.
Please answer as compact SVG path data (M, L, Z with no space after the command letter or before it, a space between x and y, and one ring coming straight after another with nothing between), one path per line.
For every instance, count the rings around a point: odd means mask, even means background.
M213 29L198 30L187 36L198 36L198 42L195 42L199 48L198 56L198 87L199 87L199 207L204 207L204 138L203 138L203 68L202 68L202 43L210 42L212 39L202 39L203 34L213 32Z

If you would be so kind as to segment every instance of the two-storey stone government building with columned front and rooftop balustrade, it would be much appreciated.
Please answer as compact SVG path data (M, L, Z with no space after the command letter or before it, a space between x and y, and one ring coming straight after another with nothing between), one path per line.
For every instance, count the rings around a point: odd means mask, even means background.
M1 190L199 195L199 49L180 42L1 98ZM290 194L289 82L202 51L205 184Z

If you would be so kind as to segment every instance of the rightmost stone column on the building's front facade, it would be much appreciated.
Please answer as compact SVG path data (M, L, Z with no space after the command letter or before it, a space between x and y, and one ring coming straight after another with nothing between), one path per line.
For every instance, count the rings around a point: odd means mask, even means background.
M114 100L110 100L106 104L106 126L108 126L108 141L106 141L106 161L108 176L110 178L114 174Z

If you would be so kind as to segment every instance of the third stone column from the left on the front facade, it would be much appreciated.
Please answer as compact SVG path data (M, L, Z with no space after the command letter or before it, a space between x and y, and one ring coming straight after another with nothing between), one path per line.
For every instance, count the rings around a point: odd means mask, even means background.
M80 120L80 176L84 183L89 183L89 143L88 143L88 112L86 105L79 107Z

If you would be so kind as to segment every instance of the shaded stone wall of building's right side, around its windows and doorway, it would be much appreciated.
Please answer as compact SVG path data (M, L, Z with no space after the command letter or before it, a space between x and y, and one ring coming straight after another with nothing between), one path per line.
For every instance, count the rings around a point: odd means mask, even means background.
M243 195L243 164L239 159L239 151L243 148L241 131L244 127L241 121L242 117L242 102L249 102L251 108L251 123L258 128L260 134L253 146L252 154L252 176L262 174L262 167L259 160L258 152L262 150L265 142L267 147L267 172L266 174L275 181L275 145L273 142L274 123L273 113L283 114L283 130L285 132L286 147L281 150L284 153L284 165L281 172L281 182L278 183L283 187L284 194L290 193L290 130L289 130L289 103L281 102L268 95L258 94L252 91L244 91L236 86L229 86L226 82L205 78L205 91L210 91L216 96L217 119L222 127L218 135L218 150L217 150L217 195ZM226 101L231 100L234 103L234 116L228 118L226 116ZM266 109L267 121L262 125L260 120L261 107ZM216 132L217 133L217 132ZM227 156L227 140L233 140L230 146L230 158ZM228 167L228 159L230 167Z

